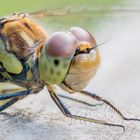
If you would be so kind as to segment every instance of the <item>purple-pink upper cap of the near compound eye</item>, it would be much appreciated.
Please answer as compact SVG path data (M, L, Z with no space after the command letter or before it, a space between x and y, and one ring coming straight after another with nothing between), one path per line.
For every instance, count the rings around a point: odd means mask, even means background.
M76 39L65 32L55 32L45 44L46 54L53 57L69 57L76 50Z

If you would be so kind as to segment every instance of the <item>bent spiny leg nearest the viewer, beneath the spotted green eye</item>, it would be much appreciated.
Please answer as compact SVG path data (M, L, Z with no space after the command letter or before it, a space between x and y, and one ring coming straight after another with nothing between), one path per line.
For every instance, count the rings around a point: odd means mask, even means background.
M60 101L60 99L57 97L57 95L55 94L53 87L48 86L48 91L53 99L53 101L56 103L56 105L59 107L59 109L61 110L61 112L66 116L66 117L70 117L70 118L74 118L76 120L83 120L83 121L87 121L87 122L92 122L92 123L97 123L97 124L102 124L102 125L108 125L108 126L115 126L115 127L121 127L123 128L123 130L125 131L125 128L123 125L119 125L119 124L112 124L112 123L107 123L103 120L95 120L92 118L86 118L86 117L82 117L82 116L77 116L77 115L73 115L71 114L71 112L64 106L64 104Z

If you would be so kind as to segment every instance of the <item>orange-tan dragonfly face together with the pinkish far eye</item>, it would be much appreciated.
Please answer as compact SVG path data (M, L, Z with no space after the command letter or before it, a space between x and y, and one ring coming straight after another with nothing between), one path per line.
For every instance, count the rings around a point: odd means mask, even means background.
M94 48L96 41L89 32L80 27L72 27L70 33L77 40L76 52L61 87L69 91L79 91L95 75L100 57L97 48Z

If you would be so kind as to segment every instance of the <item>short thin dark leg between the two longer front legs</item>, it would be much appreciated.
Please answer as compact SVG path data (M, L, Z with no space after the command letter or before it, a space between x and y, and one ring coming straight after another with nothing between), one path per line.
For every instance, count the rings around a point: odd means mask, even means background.
M68 100L71 100L71 101L75 101L75 102L78 102L78 103L81 103L81 104L84 104L84 105L87 105L87 106L90 106L90 107L97 107L97 106L102 106L104 103L101 103L101 104L90 104L90 103L87 103L85 101L81 101L81 100L78 100L78 99L74 99L74 98L71 98L71 97L68 97L68 96L65 96L65 95L61 95L61 94L58 94L59 97L62 97L64 99L68 99Z

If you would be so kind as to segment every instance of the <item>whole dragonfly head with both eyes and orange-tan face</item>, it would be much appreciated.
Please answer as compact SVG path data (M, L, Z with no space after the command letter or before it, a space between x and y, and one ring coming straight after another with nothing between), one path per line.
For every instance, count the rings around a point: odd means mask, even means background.
M96 73L99 54L94 37L80 27L52 34L41 51L39 73L49 84L83 89ZM65 88L64 88L65 89Z

